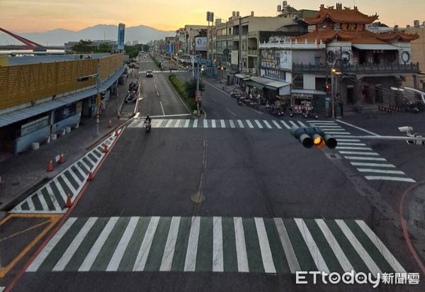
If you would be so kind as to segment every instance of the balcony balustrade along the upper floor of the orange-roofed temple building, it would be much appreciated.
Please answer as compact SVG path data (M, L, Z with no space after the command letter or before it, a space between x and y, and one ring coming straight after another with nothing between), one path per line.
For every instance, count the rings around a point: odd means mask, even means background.
M327 64L293 64L295 73L327 74L331 67ZM419 63L410 64L347 64L342 68L344 73L353 74L417 74Z

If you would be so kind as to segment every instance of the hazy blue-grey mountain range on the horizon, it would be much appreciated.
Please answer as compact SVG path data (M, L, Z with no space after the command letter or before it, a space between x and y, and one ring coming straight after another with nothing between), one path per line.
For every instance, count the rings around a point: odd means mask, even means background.
M98 24L78 31L58 28L45 33L18 33L18 35L40 45L64 45L69 41L78 40L117 40L118 26ZM176 35L175 31L157 30L149 26L125 28L125 42L138 40L139 43L147 43L150 40L161 40L173 35Z

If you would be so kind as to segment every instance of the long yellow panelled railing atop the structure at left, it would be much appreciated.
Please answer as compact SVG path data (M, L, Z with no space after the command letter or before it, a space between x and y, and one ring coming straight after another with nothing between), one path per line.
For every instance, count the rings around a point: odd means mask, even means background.
M0 109L94 86L95 79L77 82L77 77L96 74L97 62L105 80L123 66L124 56L0 66Z

